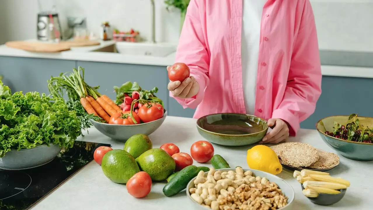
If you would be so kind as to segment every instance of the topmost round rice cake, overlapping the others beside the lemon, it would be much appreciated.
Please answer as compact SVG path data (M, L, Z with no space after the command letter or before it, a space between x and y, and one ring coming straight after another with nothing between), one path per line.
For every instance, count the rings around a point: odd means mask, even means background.
M293 167L308 167L319 160L316 148L309 144L293 144L286 146L280 153L282 162Z

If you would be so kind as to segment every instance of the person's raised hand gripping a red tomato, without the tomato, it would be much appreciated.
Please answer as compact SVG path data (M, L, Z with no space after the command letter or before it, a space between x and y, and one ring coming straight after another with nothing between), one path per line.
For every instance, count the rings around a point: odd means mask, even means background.
M171 66L167 66L167 71L169 71L170 68ZM200 85L198 85L198 82L193 76L190 76L182 82L169 82L167 88L169 91L171 91L173 97L191 98L197 95L198 91L200 90Z

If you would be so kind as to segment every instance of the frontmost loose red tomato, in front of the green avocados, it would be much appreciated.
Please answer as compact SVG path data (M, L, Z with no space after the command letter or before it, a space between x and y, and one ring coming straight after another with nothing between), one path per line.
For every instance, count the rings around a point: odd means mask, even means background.
M151 178L147 172L135 173L126 184L127 191L135 198L147 196L151 189Z

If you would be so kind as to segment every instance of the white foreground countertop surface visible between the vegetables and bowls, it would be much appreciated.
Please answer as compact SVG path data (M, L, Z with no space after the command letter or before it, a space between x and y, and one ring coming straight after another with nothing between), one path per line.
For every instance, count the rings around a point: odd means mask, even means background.
M150 135L153 148L159 148L162 144L172 142L183 152L188 152L193 142L203 140L195 126L196 119L167 116L163 125ZM172 128L172 129L170 129ZM90 142L102 142L112 144L115 149L122 149L124 143L110 140L95 129L78 140ZM333 152L317 134L316 130L301 129L297 137L291 137L289 141L304 142L316 148ZM231 166L247 166L246 147L222 147L214 145L215 154L222 155ZM295 191L295 200L292 210L317 210L317 209L372 209L372 162L357 162L341 157L340 164L332 170L330 175L341 177L351 182L346 195L338 203L332 206L318 206L311 203L303 194L300 184L293 178L292 172L286 169L278 175L287 181ZM210 164L194 162L196 166L211 167ZM32 210L102 210L102 209L129 209L147 210L162 209L193 210L191 201L186 197L185 191L174 197L166 197L162 193L164 183L153 183L150 194L141 199L131 197L126 186L116 184L103 174L101 167L94 161L90 162L76 173L72 178L40 201ZM290 210L290 209L289 209Z

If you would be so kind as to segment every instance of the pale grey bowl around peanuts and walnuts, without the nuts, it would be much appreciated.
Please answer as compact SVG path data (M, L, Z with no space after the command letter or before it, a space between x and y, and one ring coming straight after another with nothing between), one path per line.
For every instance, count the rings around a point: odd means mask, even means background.
M225 171L228 172L230 170L235 171L236 168L219 169L219 170L221 170L222 172L225 172ZM282 190L283 194L286 197L288 197L288 204L286 206L280 208L280 209L283 210L283 209L289 209L290 208L292 202L294 201L295 194L294 194L294 189L287 182L285 182L283 179L279 178L276 175L273 175L273 174L270 174L270 173L267 173L267 172L263 172L263 171L260 171L260 170L244 169L244 172L246 172L248 170L251 170L253 172L253 174L254 174L253 176L266 177L270 182L275 182L279 186L279 188ZM218 170L216 170L216 171L218 171ZM207 176L207 173L209 173L209 172L205 172L205 176ZM201 206L200 204L195 202L192 197L190 197L189 189L194 187L194 183L193 183L194 180L195 180L195 178L193 178L188 183L188 185L186 186L186 196L188 196L189 200L194 204L195 209L200 209L200 210L208 209L204 206Z

